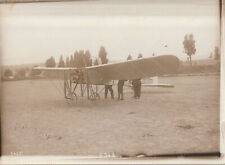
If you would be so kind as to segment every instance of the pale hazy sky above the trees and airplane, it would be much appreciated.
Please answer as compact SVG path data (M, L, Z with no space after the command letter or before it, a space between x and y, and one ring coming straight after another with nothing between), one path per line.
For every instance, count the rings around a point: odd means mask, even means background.
M3 65L56 61L76 50L111 61L172 54L186 60L183 40L192 33L195 59L207 59L220 44L217 0L90 0L0 5Z

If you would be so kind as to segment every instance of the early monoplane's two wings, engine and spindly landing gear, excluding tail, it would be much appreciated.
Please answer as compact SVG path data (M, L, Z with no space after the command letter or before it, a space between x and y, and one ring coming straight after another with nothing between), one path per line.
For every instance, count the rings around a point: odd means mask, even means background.
M134 80L174 74L178 66L179 59L176 56L161 55L82 68L35 67L34 69L58 72L61 75L59 77L64 79L64 97L66 99L77 99L76 90L80 84L79 95L84 96L87 93L88 99L95 100L100 97L97 85L104 85L111 80Z

